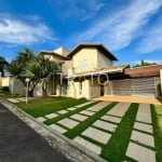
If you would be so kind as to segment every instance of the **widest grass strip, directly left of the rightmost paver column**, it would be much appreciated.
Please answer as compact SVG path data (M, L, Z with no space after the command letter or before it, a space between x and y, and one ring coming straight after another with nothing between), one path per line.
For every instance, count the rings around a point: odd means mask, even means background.
M125 160L125 152L130 143L137 110L138 104L131 104L108 144L103 148L100 156L104 159L111 162Z

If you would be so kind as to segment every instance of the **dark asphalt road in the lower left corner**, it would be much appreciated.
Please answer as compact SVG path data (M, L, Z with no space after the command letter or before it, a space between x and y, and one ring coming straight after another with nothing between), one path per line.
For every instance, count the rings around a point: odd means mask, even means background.
M68 162L0 104L0 162Z

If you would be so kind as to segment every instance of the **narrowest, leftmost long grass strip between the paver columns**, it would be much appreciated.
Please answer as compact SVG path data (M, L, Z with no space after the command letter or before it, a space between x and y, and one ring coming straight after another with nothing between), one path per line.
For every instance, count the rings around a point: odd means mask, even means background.
M56 123L57 121L59 121L59 120L62 120L62 119L65 119L65 118L68 118L68 117L70 117L70 116L72 116L72 114L79 113L80 111L85 110L85 109L87 109L89 107L92 107L92 106L94 106L94 105L96 105L96 104L98 104L98 103L99 103L99 102L95 102L95 103L89 104L89 105L86 105L86 106L83 106L83 107L81 107L81 108L77 108L77 109L73 110L73 111L69 111L69 112L67 112L67 113L59 114L59 116L56 117L56 118L49 119L49 120L44 121L44 123L45 123L46 125Z

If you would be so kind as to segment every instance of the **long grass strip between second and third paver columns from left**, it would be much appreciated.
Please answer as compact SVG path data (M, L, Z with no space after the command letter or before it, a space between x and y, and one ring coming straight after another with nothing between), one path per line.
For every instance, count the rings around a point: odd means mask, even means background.
M110 103L108 106L97 111L95 114L91 116L86 120L82 121L79 125L73 127L72 130L65 133L67 137L73 139L79 136L83 131L85 131L90 125L92 125L96 120L100 119L108 110L110 110L117 103Z

